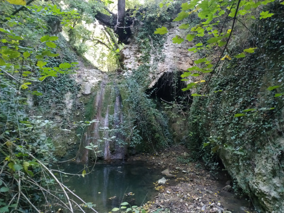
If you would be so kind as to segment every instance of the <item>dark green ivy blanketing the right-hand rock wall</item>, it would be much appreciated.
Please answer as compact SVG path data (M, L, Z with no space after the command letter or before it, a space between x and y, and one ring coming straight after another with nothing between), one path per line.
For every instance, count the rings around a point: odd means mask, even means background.
M231 55L240 51L253 54L226 60L218 74L204 78L206 82L211 78L207 91L215 92L193 99L187 146L209 168L218 162L217 155L225 160L224 156L230 156L236 162L235 170L247 168L253 173L245 162L254 161L256 154L270 146L268 135L281 131L282 124L275 123L283 122L279 111L283 106L283 47L278 45L283 39L283 16L277 3L267 9L274 13L273 20L261 19L251 25L251 33L257 37L247 40L238 35L228 46ZM240 41L248 43L246 48ZM258 48L247 48L250 46ZM204 94L202 91L198 85L196 94ZM238 185L248 193L250 180L245 175L238 174Z

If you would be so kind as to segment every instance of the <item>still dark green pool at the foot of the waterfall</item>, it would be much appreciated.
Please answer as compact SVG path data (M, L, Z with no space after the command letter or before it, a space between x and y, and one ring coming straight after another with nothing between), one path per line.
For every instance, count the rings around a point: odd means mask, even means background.
M83 164L64 164L64 172L77 173ZM147 202L155 193L155 183L162 177L161 170L145 162L96 164L92 173L62 177L70 190L75 190L86 202L96 204L98 212L110 212L127 201L131 205Z

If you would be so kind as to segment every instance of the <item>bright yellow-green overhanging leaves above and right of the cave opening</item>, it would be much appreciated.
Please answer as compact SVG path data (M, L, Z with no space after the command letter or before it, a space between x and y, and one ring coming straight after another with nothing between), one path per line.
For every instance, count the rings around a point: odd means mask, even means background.
M253 1L230 1L230 2L222 2L222 1L213 1L213 0L204 0L197 1L193 0L190 3L183 3L181 5L182 11L177 14L177 17L173 19L173 21L183 21L183 24L179 27L180 29L187 30L191 27L190 33L186 36L185 39L188 41L193 41L195 39L195 46L197 48L189 49L189 51L194 51L194 53L199 53L200 55L208 56L208 52L214 52L213 50L216 47L223 47L224 45L228 46L229 39L232 38L233 30L232 27L235 26L236 19L241 22L239 19L245 17L246 19L255 19L255 16L251 15L252 12L256 11L256 8L261 5L267 5L268 3L274 2L274 0L265 0L259 1L257 3ZM228 12L228 13L227 13ZM196 15L195 15L196 14ZM259 16L260 19L266 19L273 15L273 13L269 13L269 11L262 11ZM228 17L233 18L233 24L230 23L230 19ZM194 21L191 21L195 19ZM219 23L223 23L222 27L219 27ZM242 23L242 22L241 22ZM166 33L166 28L158 28L155 33L164 34ZM226 32L226 33L225 33ZM213 36L213 37L212 37ZM204 37L206 39L208 45L203 45L200 42L200 39L196 37ZM176 37L173 38L173 43L180 44L184 41L183 38ZM198 43L199 41L199 43ZM225 47L226 47L225 46ZM225 48L224 47L224 48ZM236 58L245 57L245 53L254 53L255 48L246 48L242 53L235 55ZM222 54L225 53L225 50ZM228 59L232 58L231 54L226 55ZM222 58L222 59L221 59ZM224 60L223 55L220 55L220 59ZM219 59L219 61L220 61ZM218 63L219 63L218 61ZM203 61L202 61L203 62ZM195 61L195 63L199 63L199 60ZM215 65L214 60L208 60L207 64L213 66ZM212 71L216 69L218 63L214 66ZM197 69L194 69L195 72L203 72L203 67L199 66ZM210 70L208 70L208 73ZM190 76L192 73L187 73L183 76L186 78ZM191 86L190 86L191 88ZM187 88L189 89L189 88ZM185 90L187 90L185 89Z

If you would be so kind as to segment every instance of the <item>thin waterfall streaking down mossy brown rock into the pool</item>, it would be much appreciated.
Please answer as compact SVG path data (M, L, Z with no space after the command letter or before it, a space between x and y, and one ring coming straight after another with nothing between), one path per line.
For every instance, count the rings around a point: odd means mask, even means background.
M97 92L93 104L93 110L96 113L92 120L95 119L98 122L94 122L88 127L81 143L82 145L77 158L78 162L88 162L90 157L95 157L92 150L85 148L90 143L98 146L97 151L101 151L97 153L97 157L101 157L104 160L124 159L125 146L116 143L115 139L108 139L110 137L109 128L116 128L123 121L122 98L119 88L115 82L115 86L112 84L108 85L108 83L108 79L105 78L101 82L100 89ZM109 117L112 114L113 122L110 123ZM116 133L115 136L116 138L123 138L119 133Z

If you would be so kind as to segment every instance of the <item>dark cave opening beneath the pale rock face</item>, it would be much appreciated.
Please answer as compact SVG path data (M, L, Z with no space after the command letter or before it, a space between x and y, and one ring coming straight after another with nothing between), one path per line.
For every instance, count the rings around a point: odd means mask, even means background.
M182 91L187 86L186 81L181 81L183 72L164 73L157 83L147 93L157 101L179 103L189 107L192 102L190 91Z

